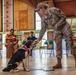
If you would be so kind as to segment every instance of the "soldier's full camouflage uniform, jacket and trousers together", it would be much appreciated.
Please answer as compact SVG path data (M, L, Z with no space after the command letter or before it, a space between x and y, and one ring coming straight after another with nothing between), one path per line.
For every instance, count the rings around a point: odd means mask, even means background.
M66 21L66 16L64 13L58 9L58 8L49 8L48 9L49 16L44 15L41 20L41 31L39 34L39 40L42 39L47 26L51 25L51 27L54 30L54 40L56 42L56 51L57 51L57 57L62 58L62 38L63 36L66 38L66 41L71 49L71 52L73 54L73 33L70 28L70 25ZM58 25L59 27L57 29L54 28L55 25Z

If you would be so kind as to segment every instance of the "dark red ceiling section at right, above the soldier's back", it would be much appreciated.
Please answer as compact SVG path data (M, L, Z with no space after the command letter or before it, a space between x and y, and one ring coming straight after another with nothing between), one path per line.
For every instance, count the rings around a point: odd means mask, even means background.
M76 17L76 0L54 0L54 6L60 8L67 17Z

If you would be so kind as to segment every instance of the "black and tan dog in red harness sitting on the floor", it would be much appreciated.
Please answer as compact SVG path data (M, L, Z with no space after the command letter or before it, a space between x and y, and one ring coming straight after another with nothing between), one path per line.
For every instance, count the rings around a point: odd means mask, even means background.
M24 44L21 48L19 48L13 54L13 56L11 57L11 59L9 60L9 62L7 64L7 67L4 68L2 71L10 72L11 70L16 69L20 63L23 64L23 69L26 70L25 58L27 59L29 57L30 47L33 47L33 41L31 41L31 40L27 41L26 44Z

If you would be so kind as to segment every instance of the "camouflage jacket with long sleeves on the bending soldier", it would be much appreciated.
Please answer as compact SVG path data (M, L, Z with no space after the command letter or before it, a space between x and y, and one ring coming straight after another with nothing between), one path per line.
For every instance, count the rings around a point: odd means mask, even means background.
M58 29L61 29L66 23L66 16L60 9L52 7L48 9L48 12L49 16L44 15L41 19L39 40L42 39L48 25L51 25L51 27L54 29L54 26L57 24L59 25Z

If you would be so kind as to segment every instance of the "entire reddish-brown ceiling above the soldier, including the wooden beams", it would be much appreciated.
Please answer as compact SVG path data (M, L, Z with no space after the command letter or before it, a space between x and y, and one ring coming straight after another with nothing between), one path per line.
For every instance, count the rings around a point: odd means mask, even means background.
M50 7L55 6L60 8L67 17L76 17L76 0L21 0L27 2L33 8L43 1L49 4Z

